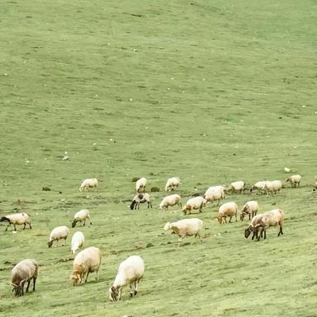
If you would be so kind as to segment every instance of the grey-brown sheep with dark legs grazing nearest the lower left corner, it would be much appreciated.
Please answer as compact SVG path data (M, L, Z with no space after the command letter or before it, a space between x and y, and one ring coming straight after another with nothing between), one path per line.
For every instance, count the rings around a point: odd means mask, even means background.
M11 271L12 292L15 296L24 295L24 284L27 282L26 292L29 291L31 279L33 279L33 292L35 292L35 282L38 277L38 264L35 260L27 259L16 264Z

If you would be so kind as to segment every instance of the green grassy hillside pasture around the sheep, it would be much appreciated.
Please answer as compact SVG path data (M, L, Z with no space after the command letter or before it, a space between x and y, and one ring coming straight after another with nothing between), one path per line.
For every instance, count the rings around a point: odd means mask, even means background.
M32 230L0 226L0 315L317 316L316 1L40 1L0 3L0 215L31 214ZM69 160L63 161L64 152ZM244 238L247 221L198 216L202 244L163 231L166 179L185 204L211 185L302 175L300 188L252 198L285 211L284 235ZM153 209L130 211L133 177L148 179ZM80 193L85 178L97 191ZM285 182L284 182L285 184ZM52 191L42 191L49 186ZM195 189L196 188L196 189ZM18 204L20 200L20 204ZM92 225L48 249L55 226L80 209ZM70 240L102 251L99 280L73 287ZM146 264L135 298L108 288L129 255ZM37 289L11 293L22 259L40 264Z

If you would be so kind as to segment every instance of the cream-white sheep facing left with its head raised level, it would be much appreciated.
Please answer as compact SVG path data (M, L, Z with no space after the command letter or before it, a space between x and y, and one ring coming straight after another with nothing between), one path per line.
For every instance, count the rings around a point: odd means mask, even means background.
M202 238L199 231L202 229L203 225L204 222L198 218L182 219L172 223L166 222L164 230L171 229L172 233L178 235L178 247L180 247L180 243L185 236L195 235L195 238L198 236L201 243Z

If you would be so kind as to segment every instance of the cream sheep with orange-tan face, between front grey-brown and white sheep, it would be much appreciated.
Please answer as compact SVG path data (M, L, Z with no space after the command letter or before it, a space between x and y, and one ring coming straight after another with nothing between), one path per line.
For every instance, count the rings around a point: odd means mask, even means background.
M86 276L85 283L87 282L88 275L91 272L97 274L101 264L101 253L96 247L86 248L80 251L74 259L73 273L70 279L73 281L73 286L83 283ZM87 275L86 275L87 274Z

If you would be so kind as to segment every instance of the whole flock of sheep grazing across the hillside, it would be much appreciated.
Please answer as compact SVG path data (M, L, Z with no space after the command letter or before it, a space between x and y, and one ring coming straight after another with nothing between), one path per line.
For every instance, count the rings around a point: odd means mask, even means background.
M301 176L293 175L286 179L286 182L290 182L292 187L300 186ZM169 178L165 185L165 191L174 191L181 184L178 177ZM130 209L139 209L140 204L147 202L148 208L152 208L152 202L150 195L145 193L145 188L147 185L147 179L142 177L136 181L136 192L137 194L132 200ZM316 185L313 190L316 189ZM97 188L98 180L96 178L85 179L79 187L80 191L88 191L90 188ZM282 182L279 180L276 181L261 181L255 183L250 188L250 192L258 191L262 194L276 194L282 188ZM245 190L245 183L243 181L233 182L228 187L219 185L212 186L207 189L204 196L193 195L185 206L182 207L181 197L177 194L172 194L163 198L159 204L159 210L167 210L172 206L179 206L182 208L182 211L186 215L191 213L193 210L198 210L199 212L203 211L208 204L213 202L219 203L224 200L225 194L227 193L242 193ZM259 209L257 201L248 201L240 211L240 220L243 221L246 216L251 220L249 226L245 229L245 238L248 238L251 233L253 233L252 240L254 237L257 240L260 240L264 235L266 238L266 229L271 226L279 225L278 236L283 234L283 221L284 221L284 212L279 209L272 211L266 211L261 214L257 214ZM227 222L227 217L229 222L233 216L237 221L238 215L238 206L235 202L228 202L219 207L219 212L217 219L220 224ZM78 211L74 215L72 221L72 227L75 227L77 223L86 224L86 221L90 220L90 212L86 209ZM14 213L0 218L0 222L8 222L8 227L13 224L14 231L16 231L16 225L24 225L23 230L26 228L26 225L32 229L30 215L22 213ZM167 222L164 225L164 230L171 230L172 233L178 235L178 246L180 246L181 241L185 236L198 236L201 242L200 230L203 228L203 221L199 218L186 218L181 219L176 222ZM59 226L52 230L49 240L48 247L53 246L53 242L56 243L59 240L66 239L69 233L67 226ZM75 254L81 247L83 247L85 242L84 235L81 231L74 233L71 239L71 253ZM73 272L71 275L71 280L73 285L81 284L87 282L88 275L91 272L95 272L98 276L98 270L101 265L101 252L99 248L89 247L80 251L73 262ZM141 278L143 277L145 270L145 264L141 257L131 256L127 260L123 261L118 268L118 273L114 279L114 282L109 288L109 299L110 301L118 301L121 299L122 288L123 286L129 284L130 286L130 296L136 295L138 293L138 284ZM35 291L35 283L38 276L38 264L35 260L26 259L16 264L11 271L11 285L16 296L24 295L24 285L27 283L26 292L28 292L29 285L31 280L33 280L33 291Z

